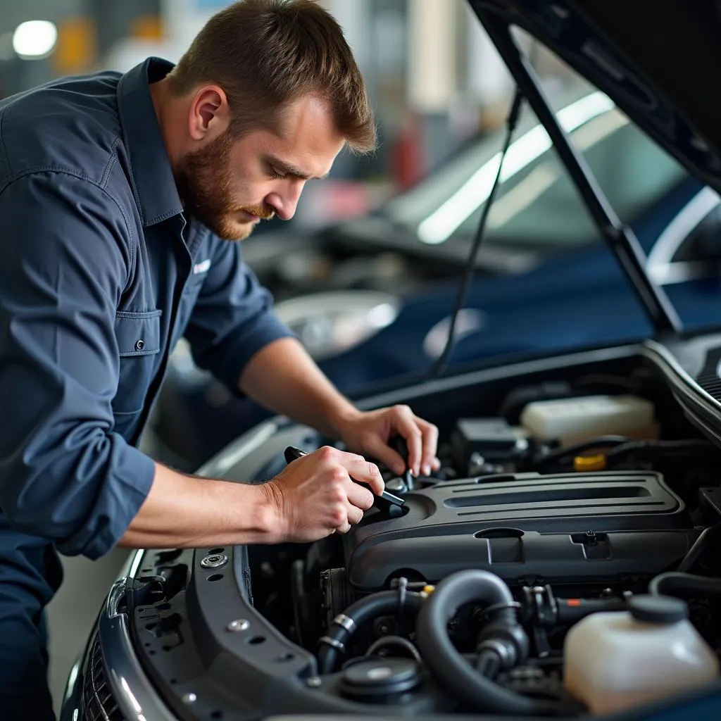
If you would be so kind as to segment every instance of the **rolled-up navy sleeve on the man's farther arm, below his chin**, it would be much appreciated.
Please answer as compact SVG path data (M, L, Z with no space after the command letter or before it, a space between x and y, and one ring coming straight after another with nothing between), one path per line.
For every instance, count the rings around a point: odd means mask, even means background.
M185 337L200 368L232 392L248 361L270 342L295 337L273 311L273 296L243 262L241 244L214 239L208 276Z

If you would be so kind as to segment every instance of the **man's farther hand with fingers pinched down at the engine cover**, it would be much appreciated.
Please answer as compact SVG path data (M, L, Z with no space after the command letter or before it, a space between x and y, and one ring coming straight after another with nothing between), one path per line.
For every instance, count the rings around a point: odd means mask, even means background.
M413 415L406 405L396 405L370 412L355 412L335 424L342 441L358 453L382 461L394 473L405 471L403 459L388 446L394 435L402 435L408 446L408 466L412 474L425 476L437 471L441 461L438 451L438 428Z

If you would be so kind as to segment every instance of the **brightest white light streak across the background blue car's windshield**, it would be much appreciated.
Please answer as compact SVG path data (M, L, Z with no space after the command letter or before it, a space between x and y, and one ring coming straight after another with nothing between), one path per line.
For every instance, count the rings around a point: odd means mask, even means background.
M594 92L560 110L558 121L567 133L571 133L588 123L588 120L614 107L614 102L606 94ZM508 148L500 175L501 182L508 180L551 147L551 138L543 125L539 123L531 128ZM418 226L418 237L429 245L446 241L466 218L485 203L499 163L500 152L482 165L440 208L425 218Z

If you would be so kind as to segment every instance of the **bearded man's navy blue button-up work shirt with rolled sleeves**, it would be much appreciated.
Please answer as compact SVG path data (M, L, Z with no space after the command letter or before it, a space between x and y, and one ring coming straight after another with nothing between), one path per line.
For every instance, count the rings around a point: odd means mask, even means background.
M0 102L0 580L12 544L97 558L123 536L154 476L135 444L181 336L235 389L291 335L240 244L183 215L149 89L170 68Z

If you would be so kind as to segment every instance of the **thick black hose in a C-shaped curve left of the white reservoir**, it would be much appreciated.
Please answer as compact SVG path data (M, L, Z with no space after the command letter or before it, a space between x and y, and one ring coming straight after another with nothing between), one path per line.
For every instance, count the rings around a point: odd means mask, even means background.
M553 714L557 704L508 691L480 676L448 638L448 621L460 606L471 601L501 606L513 603L508 586L487 571L459 571L439 583L421 606L416 642L433 677L448 694L473 710L507 714ZM514 614L513 609L506 611Z

